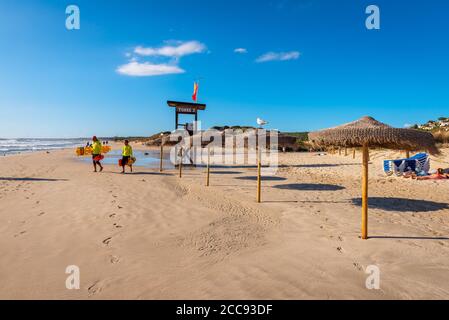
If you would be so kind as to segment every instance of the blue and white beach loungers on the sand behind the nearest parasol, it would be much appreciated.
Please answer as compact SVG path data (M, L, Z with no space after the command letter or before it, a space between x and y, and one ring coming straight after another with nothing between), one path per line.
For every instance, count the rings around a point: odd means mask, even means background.
M384 160L384 171L387 175L391 176L396 174L401 176L404 172L429 172L430 170L430 158L427 153L418 153L408 159L397 160Z

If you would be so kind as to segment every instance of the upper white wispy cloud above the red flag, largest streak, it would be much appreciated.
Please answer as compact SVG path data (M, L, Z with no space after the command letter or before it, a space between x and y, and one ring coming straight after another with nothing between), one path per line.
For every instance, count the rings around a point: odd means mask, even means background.
M206 50L206 46L198 41L178 42L176 45L166 45L163 47L136 47L134 53L149 57L173 57L180 58L194 53L202 53Z

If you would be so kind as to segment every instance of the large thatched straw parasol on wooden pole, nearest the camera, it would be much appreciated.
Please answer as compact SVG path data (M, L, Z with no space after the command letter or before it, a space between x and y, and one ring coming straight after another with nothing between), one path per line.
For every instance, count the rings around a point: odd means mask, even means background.
M309 133L309 140L319 146L363 147L362 239L368 238L368 159L369 147L438 153L433 135L413 129L398 129L371 117L335 128Z

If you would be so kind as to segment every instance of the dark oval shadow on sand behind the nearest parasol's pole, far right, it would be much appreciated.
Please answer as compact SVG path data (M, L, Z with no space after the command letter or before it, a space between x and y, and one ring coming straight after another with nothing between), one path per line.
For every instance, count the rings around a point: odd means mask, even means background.
M354 198L351 201L356 206L362 205L360 198ZM385 211L431 212L449 209L449 204L427 200L374 197L368 199L368 207Z

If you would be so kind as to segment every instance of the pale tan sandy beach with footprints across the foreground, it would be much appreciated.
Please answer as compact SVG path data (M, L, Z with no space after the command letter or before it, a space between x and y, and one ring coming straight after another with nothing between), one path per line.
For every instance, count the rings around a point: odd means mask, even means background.
M432 168L449 167L442 152ZM280 154L261 204L255 168L213 169L206 187L204 169L2 157L0 299L448 299L449 182L386 177L381 161L401 156L371 152L367 241L360 153ZM80 290L65 287L69 265Z

